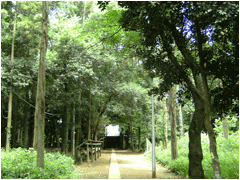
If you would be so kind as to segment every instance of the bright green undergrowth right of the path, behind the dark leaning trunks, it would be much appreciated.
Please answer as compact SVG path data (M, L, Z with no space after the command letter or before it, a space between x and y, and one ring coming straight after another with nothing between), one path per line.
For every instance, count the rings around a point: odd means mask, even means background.
M178 140L178 159L171 159L171 142L167 149L156 148L156 160L164 164L172 172L188 177L188 136ZM202 134L203 170L206 179L214 179L212 160L209 151L208 136ZM239 179L239 132L233 133L229 139L222 134L217 137L217 152L223 179ZM151 152L148 154L151 156Z

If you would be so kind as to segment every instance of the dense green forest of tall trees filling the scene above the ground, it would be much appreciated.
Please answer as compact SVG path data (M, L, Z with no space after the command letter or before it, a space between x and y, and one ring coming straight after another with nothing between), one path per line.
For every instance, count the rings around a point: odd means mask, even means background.
M1 147L68 154L119 125L129 149L151 141L204 178L201 134L239 130L239 3L1 1Z

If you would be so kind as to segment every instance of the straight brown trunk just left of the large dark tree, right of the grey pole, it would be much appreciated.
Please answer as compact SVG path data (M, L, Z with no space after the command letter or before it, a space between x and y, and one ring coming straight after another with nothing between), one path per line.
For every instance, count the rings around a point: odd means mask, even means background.
M176 134L176 86L174 85L170 90L170 103L169 103L170 117L171 117L171 152L172 160L178 158L177 150L177 134Z

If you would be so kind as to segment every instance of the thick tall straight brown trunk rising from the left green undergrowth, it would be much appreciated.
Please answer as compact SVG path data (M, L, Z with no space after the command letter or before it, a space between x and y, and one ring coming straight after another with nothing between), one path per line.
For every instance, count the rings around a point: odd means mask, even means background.
M36 97L37 122L37 166L44 168L44 125L45 125L45 60L47 53L48 2L42 2L42 38Z

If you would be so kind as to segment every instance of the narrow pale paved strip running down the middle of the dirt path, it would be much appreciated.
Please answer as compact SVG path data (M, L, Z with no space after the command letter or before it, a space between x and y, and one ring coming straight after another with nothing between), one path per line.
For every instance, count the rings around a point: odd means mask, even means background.
M121 179L117 162L117 155L114 149L112 150L108 179Z

